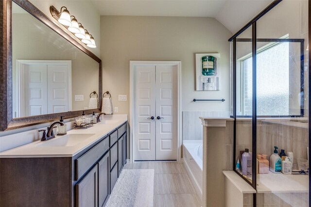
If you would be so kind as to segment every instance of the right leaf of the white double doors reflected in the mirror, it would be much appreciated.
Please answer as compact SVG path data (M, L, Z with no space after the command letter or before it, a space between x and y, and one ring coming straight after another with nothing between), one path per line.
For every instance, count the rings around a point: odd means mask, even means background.
M48 113L69 111L68 77L68 64L48 64Z

